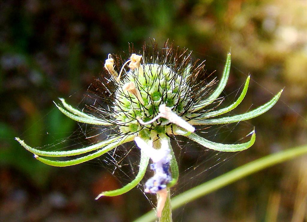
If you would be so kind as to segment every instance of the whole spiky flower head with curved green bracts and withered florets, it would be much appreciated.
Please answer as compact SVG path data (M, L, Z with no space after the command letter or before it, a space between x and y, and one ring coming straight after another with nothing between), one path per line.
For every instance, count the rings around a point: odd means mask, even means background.
M242 102L250 80L250 77L247 77L244 88L234 103L222 109L207 109L208 105L220 101L219 96L227 84L230 64L231 54L228 53L222 78L212 90L214 81L206 83L198 78L199 74L204 72L204 62L191 63L191 52L168 47L167 43L161 51L155 43L152 46L145 45L142 54L132 53L126 61L109 54L104 65L106 76L97 81L98 88L103 88L103 91L108 93L102 97L107 103L107 109L96 107L98 115L94 115L73 108L64 99L60 99L62 106L55 104L69 118L97 126L110 126L115 134L109 135L105 141L81 149L54 152L32 148L19 138L16 140L34 153L37 160L58 167L92 160L121 144L135 141L141 152L139 172L135 179L118 190L102 192L96 199L101 196L120 195L137 186L151 159L153 163L150 168L154 175L145 183L145 192L159 194L157 215L160 216L167 195L166 188L174 186L179 177L169 136L182 135L208 149L222 152L245 150L255 142L254 130L248 134L251 137L245 143L220 144L197 135L195 126L228 124L254 118L268 111L282 93L280 91L269 102L254 110L220 117ZM97 95L100 96L99 92ZM42 157L80 154L84 156L66 161Z

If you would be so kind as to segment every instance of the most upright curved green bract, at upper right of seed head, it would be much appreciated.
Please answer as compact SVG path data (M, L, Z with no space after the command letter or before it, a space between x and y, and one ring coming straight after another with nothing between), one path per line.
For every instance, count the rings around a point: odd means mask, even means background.
M219 85L217 86L216 90L203 102L194 105L192 108L192 112L196 112L200 109L203 109L204 107L210 105L211 103L213 103L219 96L220 94L223 92L227 81L228 81L228 77L229 77L229 72L230 72L230 65L231 65L231 53L229 52L227 54L227 58L226 58L226 63L225 63L225 67L223 70L223 75L222 78L220 80Z

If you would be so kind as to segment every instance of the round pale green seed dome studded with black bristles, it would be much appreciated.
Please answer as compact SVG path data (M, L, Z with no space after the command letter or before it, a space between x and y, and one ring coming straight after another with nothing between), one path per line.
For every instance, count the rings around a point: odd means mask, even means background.
M121 80L123 87L115 92L115 119L120 122L120 131L136 132L146 127L157 134L165 133L171 126L169 120L160 118L143 126L137 118L150 121L158 114L161 104L177 114L182 113L189 102L185 95L191 91L187 71L178 74L167 65L149 63L127 72Z

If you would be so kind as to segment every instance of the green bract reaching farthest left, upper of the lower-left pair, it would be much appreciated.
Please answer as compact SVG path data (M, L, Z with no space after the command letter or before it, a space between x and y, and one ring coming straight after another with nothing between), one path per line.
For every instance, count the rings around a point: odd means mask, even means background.
M121 136L122 137L122 136ZM101 141L97 144L88 146L88 147L84 147L81 149L74 149L74 150L68 150L68 151L44 151L44 150L39 150L39 149L35 149L30 147L29 145L27 145L23 140L19 139L18 137L15 138L15 140L17 140L20 145L22 145L26 150L38 155L38 156L50 156L50 157L62 157L62 156L76 156L79 154L84 154L87 152L91 152L93 150L97 150L100 149L103 146L106 146L116 140L120 140L119 136L117 137L113 137L110 139L107 139L106 141Z

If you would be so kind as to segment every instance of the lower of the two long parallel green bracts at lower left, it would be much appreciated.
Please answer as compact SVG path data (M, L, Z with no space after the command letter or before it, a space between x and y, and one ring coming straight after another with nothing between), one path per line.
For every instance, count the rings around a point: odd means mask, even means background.
M115 147L122 145L123 143L132 141L134 139L134 135L128 135L126 137L124 137L122 140L120 141L115 141L109 145L107 145L106 147L104 147L103 149L100 149L94 153L91 153L87 156L83 156L74 160L67 160L67 161L58 161L58 160L49 160L49 159L45 159L39 156L35 156L35 158L39 161L41 161L44 164L48 164L50 166L55 166L55 167L67 167L67 166L72 166L72 165L76 165L76 164L80 164L80 163L84 163L88 160L92 160L95 159L98 156L103 155L104 153L110 151L111 149L114 149Z

